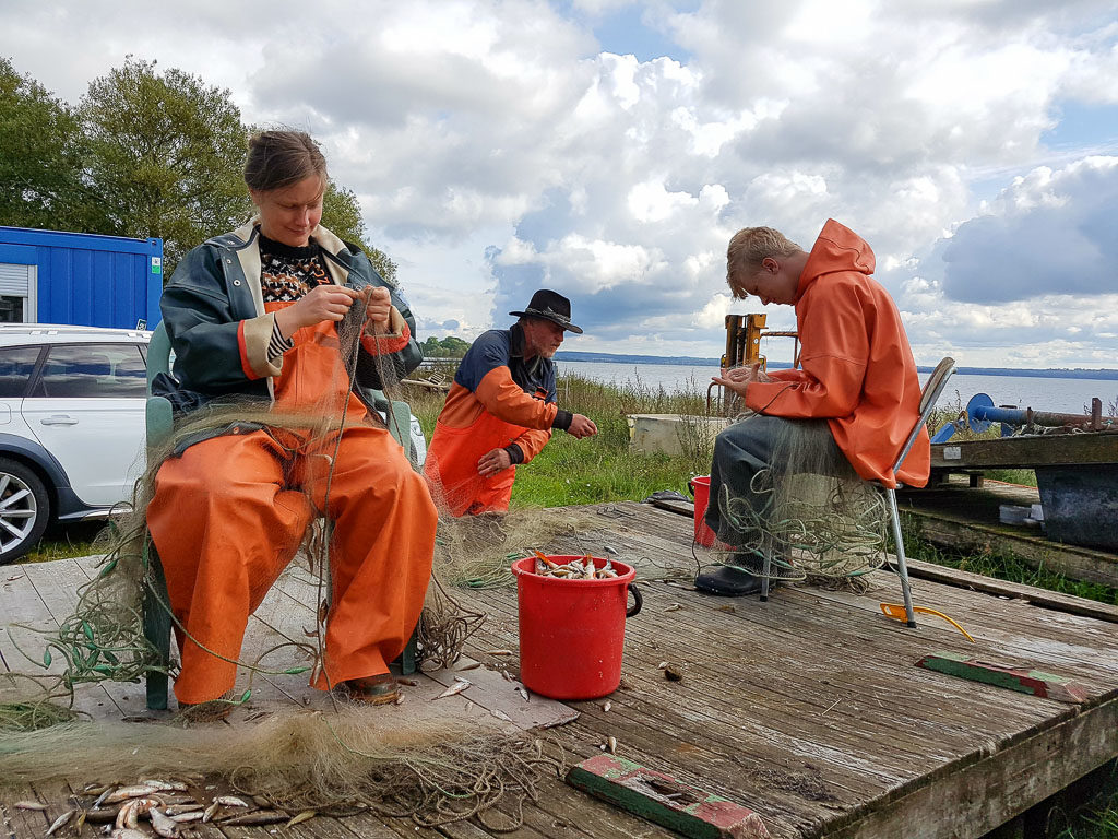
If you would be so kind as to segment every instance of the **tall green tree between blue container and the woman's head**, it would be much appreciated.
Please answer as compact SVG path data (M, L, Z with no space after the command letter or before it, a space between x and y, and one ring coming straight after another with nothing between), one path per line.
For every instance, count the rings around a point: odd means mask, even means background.
M247 129L229 91L129 57L78 109L87 170L119 236L163 239L164 276L188 249L252 213L241 179Z

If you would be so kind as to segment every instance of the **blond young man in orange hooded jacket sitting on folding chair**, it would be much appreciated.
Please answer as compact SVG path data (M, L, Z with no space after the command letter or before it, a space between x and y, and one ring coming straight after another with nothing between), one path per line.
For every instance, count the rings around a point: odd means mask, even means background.
M920 383L900 313L873 279L873 270L870 246L834 219L824 225L809 253L770 227L747 227L730 239L727 282L733 296L795 305L802 345L798 369L766 374L754 366L714 377L757 412L714 443L707 524L731 547L748 544L752 535L737 531L718 500L728 494L759 502L750 482L761 469L779 465L771 456L781 423L825 424L833 444L865 480L890 487L898 481L927 483L927 432L901 470L892 470L920 416ZM759 558L739 554L732 565L759 567ZM739 596L759 591L760 578L719 566L699 574L695 586Z

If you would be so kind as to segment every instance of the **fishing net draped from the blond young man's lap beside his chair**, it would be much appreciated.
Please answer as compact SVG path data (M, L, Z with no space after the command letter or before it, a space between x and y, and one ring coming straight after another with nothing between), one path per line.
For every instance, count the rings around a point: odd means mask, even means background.
M748 493L720 488L716 502L735 545L713 553L754 575L767 554L770 578L865 590L864 575L885 563L880 490L858 475L826 422L786 420L767 427L769 465L756 471Z

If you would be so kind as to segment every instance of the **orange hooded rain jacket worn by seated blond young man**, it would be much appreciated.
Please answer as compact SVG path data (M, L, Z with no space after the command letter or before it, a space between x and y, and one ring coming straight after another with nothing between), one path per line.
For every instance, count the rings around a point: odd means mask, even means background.
M922 487L931 460L926 428L893 474L920 417L920 383L900 313L873 268L870 246L828 219L796 292L800 369L776 370L774 381L749 385L746 406L770 416L825 418L862 478Z

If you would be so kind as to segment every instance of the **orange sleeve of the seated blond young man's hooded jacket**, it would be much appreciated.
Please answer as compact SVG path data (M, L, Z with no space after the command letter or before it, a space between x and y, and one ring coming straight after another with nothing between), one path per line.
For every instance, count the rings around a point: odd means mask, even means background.
M796 371L799 375L749 385L746 407L794 420L827 420L853 413L862 395L870 355L862 305L853 292L807 301L798 323L804 337L802 369Z

